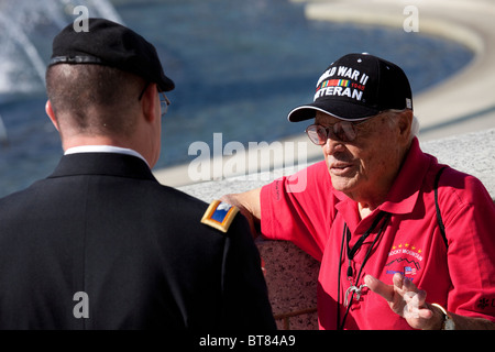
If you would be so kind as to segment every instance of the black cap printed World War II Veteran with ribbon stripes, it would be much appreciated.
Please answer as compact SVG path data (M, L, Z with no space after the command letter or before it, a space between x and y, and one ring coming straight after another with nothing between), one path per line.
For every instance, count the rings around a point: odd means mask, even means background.
M320 76L312 103L289 112L288 120L312 119L322 111L348 121L371 118L388 109L413 109L413 94L404 70L363 53L333 62Z

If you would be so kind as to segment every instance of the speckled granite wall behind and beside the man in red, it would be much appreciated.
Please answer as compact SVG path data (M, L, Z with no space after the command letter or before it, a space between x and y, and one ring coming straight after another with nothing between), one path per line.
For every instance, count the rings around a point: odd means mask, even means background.
M495 129L421 143L421 148L461 172L476 176L495 200ZM298 167L300 167L299 165ZM277 169L270 178L289 175ZM207 202L230 193L241 193L267 184L267 177L230 177L179 187ZM317 279L319 263L294 244L256 240L263 260L272 308L282 330L318 329Z

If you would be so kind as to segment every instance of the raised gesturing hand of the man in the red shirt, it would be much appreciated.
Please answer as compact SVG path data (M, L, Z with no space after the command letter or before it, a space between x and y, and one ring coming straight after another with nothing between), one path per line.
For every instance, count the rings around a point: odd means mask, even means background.
M364 283L372 292L385 298L391 309L406 319L414 329L441 328L441 320L432 319L437 315L425 301L426 292L418 289L410 279L396 273L393 277L394 285L386 285L372 275L366 275Z

